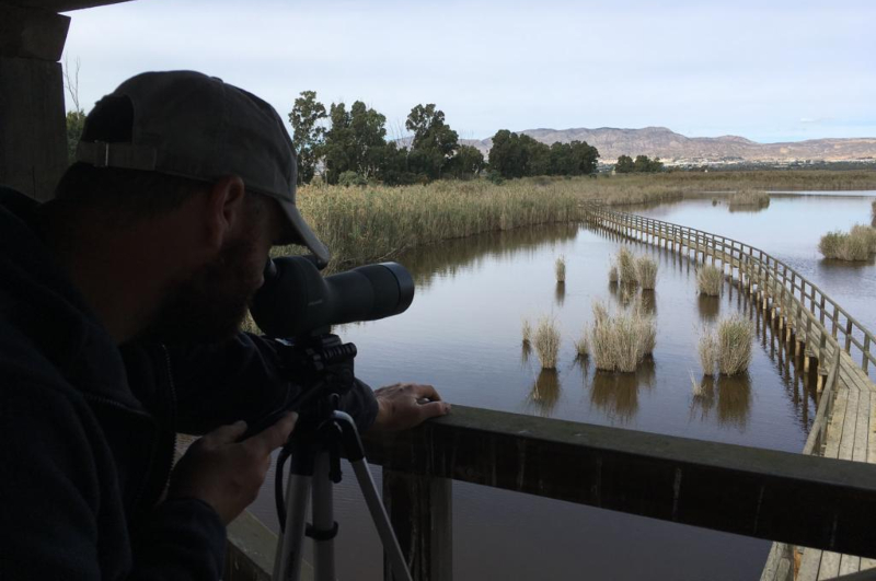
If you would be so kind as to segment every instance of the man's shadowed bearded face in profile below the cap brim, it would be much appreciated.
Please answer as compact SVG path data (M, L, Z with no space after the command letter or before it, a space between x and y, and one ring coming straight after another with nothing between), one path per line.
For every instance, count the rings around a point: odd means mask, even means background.
M256 194L247 194L256 195ZM169 345L218 342L240 330L273 241L281 230L273 201L249 211L242 235L168 292L146 336Z

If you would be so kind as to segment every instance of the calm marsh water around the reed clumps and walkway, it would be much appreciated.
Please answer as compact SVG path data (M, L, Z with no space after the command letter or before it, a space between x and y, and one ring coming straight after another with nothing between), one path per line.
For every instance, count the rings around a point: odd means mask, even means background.
M866 297L876 267L826 265L815 251L829 229L869 217L869 199L774 197L768 210L729 213L711 200L643 209L667 221L742 240L786 259L862 322L876 322ZM765 217L765 218L764 218ZM817 228L816 228L817 226ZM737 289L719 299L696 294L692 263L667 251L631 244L659 263L657 290L644 297L657 317L654 360L637 373L597 373L575 358L573 341L592 321L591 302L621 307L608 282L621 242L578 225L541 226L452 241L400 259L417 279L417 297L402 316L335 329L357 344L357 375L379 386L434 384L456 404L654 433L798 452L815 402ZM553 265L566 258L566 283ZM862 294L864 295L862 298ZM701 382L700 329L730 313L758 324L747 375ZM521 347L521 318L552 316L562 328L556 372L540 372ZM873 324L873 323L869 323ZM876 325L874 325L876 326ZM373 469L379 476L379 468ZM336 492L342 524L341 579L379 579L381 556L350 470ZM269 477L269 478L273 478ZM256 514L275 526L273 496ZM485 487L453 484L454 579L752 579L770 544Z

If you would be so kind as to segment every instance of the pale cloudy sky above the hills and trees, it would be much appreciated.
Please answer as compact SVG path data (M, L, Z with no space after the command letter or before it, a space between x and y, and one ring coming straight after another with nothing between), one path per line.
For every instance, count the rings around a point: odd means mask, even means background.
M135 0L68 15L87 111L138 72L193 69L284 119L301 91L326 108L364 101L390 137L420 103L465 139L647 126L876 137L874 0Z

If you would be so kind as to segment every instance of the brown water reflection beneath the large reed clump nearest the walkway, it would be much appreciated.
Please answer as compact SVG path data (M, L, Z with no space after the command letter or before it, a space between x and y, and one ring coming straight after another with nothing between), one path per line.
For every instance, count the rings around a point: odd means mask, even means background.
M751 377L748 373L738 375L703 375L696 383L694 379L691 399L691 418L707 421L717 403L719 426L730 426L745 430L751 410Z

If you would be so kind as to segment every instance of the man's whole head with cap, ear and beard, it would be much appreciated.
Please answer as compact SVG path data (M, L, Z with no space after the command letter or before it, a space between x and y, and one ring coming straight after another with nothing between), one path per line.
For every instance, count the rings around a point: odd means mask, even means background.
M177 268L138 335L187 342L234 330L273 244L328 259L295 206L295 152L279 116L219 79L176 71L126 81L89 115L77 160L58 200L96 210L118 232L161 231L183 249L164 257ZM163 275L161 258L141 262Z

